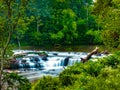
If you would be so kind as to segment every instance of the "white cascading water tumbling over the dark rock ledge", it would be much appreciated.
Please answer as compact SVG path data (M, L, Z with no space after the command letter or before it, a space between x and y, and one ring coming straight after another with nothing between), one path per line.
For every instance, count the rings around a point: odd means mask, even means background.
M15 54L19 54L21 52L28 53L33 51L14 51ZM43 58L38 54L27 54L24 58L21 58L21 60L19 59L19 68L50 69L71 66L76 62L80 62L80 58L84 58L88 54L83 52L44 52L47 53L47 57Z

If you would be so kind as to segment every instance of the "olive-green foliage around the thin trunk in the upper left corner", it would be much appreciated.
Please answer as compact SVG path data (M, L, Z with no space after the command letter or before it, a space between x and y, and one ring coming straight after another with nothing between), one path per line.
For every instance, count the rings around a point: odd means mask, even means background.
M4 54L11 38L21 40L28 29L27 26L32 21L26 17L28 2L30 1L0 1L0 49Z

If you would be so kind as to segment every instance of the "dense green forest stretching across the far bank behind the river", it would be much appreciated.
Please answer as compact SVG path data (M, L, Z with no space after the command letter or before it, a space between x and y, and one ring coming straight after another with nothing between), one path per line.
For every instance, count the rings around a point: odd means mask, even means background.
M119 5L119 0L33 0L24 18L19 19L22 25L17 26L11 43L19 47L96 44L118 47Z

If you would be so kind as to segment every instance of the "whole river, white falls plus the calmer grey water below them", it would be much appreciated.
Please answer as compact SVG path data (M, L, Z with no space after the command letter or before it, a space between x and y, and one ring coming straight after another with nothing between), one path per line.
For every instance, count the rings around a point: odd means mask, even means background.
M19 75L25 76L30 80L35 80L42 76L58 76L67 66L76 62L81 62L80 58L88 55L87 52L60 52L60 51L35 51L35 50L13 50L14 55L26 54L22 58L17 58ZM34 52L45 52L47 57L41 57ZM93 55L92 58L101 58L105 55ZM36 61L37 57L37 61ZM24 61L24 63L23 63Z

